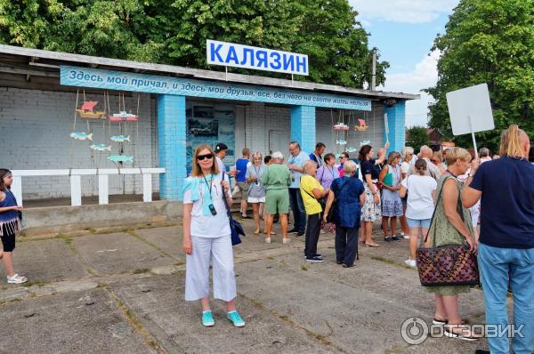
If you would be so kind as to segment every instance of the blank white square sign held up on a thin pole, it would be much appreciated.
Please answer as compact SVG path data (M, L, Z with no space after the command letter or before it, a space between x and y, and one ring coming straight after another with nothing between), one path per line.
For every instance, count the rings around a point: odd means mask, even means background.
M454 135L471 133L478 157L474 133L495 129L488 84L477 84L447 93L450 125Z

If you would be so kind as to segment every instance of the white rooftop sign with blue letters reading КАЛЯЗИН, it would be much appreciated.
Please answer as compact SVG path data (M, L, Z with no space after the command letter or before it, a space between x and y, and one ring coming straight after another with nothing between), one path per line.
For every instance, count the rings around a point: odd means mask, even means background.
M206 40L208 64L308 75L308 56L250 45Z

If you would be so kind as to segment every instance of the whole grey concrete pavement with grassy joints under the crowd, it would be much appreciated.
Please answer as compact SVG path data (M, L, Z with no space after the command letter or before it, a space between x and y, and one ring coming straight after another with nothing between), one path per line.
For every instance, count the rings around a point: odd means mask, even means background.
M401 325L432 321L433 295L404 266L408 241L360 247L356 267L335 262L333 236L321 234L325 263L304 261L303 237L270 245L253 235L234 247L238 307L247 326L234 328L223 302L204 328L198 303L183 301L179 225L100 230L49 238L21 237L16 270L25 286L0 283L0 313L9 328L0 353L469 353L485 340L429 338L409 345ZM278 226L277 226L278 228ZM376 230L376 234L378 231ZM5 279L4 270L0 277ZM460 296L462 314L483 322L482 294Z

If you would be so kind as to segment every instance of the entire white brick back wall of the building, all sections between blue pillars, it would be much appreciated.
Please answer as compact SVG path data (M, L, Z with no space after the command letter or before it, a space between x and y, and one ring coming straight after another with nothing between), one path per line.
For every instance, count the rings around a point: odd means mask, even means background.
M110 92L111 112L118 111L118 97ZM97 109L103 109L102 95L87 94L87 101L99 101ZM83 101L80 91L78 106ZM137 94L125 97L126 109L135 112ZM76 93L61 93L42 90L27 90L0 87L0 146L2 155L0 166L10 169L56 169L56 168L113 168L114 164L102 154L93 162L92 152L87 141L73 141ZM158 130L156 102L150 95L141 95L139 135L135 124L128 124L126 132L132 142L125 144L124 155L134 156L135 167L158 166ZM247 148L267 155L280 150L287 156L290 138L290 113L288 107L271 106L251 102L244 109L244 139ZM333 110L334 122L338 120L337 110ZM357 118L364 118L369 128L365 133L350 131L347 146L360 149L360 141L370 140L378 148L384 144L384 108L376 105L373 112L356 111L352 114L351 125ZM349 113L344 112L344 122L348 123ZM93 142L111 144L109 125L102 132L102 122L90 123L93 129ZM336 133L332 130L332 117L329 109L317 109L317 141L327 145L328 152L341 152L336 146ZM87 132L87 121L77 119L77 132ZM111 135L119 133L118 126L111 126ZM243 137L242 137L243 138ZM239 139L236 139L239 141ZM117 153L117 143L113 143ZM239 155L243 146L236 146ZM311 152L311 151L307 151ZM95 158L98 153L93 154ZM72 156L72 159L71 159ZM351 154L357 157L357 153ZM153 189L158 191L158 177L153 178ZM48 197L69 197L68 177L23 178L22 189L25 199ZM84 196L98 195L98 181L94 177L82 177ZM109 194L141 194L142 177L134 175L109 176Z

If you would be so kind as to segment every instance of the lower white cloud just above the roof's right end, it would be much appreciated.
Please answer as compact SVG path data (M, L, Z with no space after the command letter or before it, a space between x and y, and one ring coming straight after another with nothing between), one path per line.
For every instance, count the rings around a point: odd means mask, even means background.
M440 52L434 51L420 60L416 67L405 73L386 74L385 85L378 87L394 93L419 93L420 100L408 101L406 104L406 125L426 125L428 117L428 104L433 101L427 93L420 90L436 84L438 80L437 62Z

